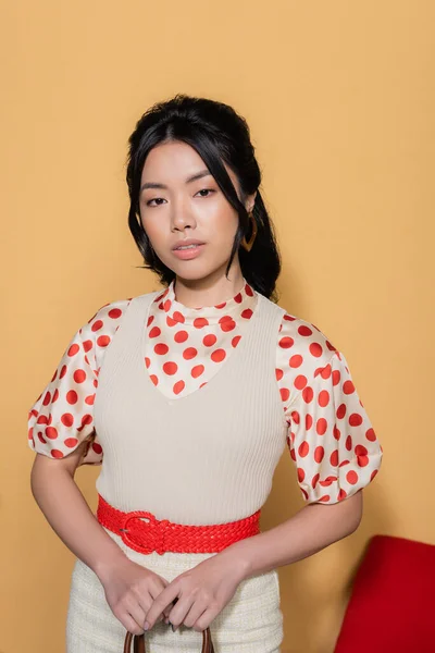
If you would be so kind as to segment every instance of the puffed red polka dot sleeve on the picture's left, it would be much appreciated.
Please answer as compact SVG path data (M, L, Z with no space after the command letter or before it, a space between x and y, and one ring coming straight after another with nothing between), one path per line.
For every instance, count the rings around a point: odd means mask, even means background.
M86 441L80 465L100 465L103 452L94 427L98 374L128 300L108 304L70 341L51 380L28 412L28 445L63 458Z

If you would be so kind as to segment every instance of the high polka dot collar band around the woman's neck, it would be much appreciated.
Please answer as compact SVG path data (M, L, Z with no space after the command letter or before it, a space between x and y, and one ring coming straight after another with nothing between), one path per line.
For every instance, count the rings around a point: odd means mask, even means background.
M239 317L245 310L253 309L257 303L257 293L246 279L244 279L241 289L231 299L216 306L202 306L200 308L190 308L177 301L174 285L175 280L170 283L163 295L158 295L156 299L159 303L159 309L164 311L167 320L174 323L192 324L198 319L206 319L209 324L212 324L222 321L223 318Z

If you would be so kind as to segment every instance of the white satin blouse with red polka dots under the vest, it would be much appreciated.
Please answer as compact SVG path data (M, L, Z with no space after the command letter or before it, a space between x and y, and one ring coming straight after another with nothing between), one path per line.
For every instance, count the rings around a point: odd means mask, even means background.
M148 315L144 366L165 396L186 396L219 373L244 337L258 295L244 281L232 299L188 308L174 283ZM80 464L103 459L92 406L104 353L130 299L100 308L70 342L28 415L28 443L63 458L80 442ZM285 313L276 333L276 392L288 424L287 445L307 502L336 503L370 483L382 447L352 382L346 358L314 324Z

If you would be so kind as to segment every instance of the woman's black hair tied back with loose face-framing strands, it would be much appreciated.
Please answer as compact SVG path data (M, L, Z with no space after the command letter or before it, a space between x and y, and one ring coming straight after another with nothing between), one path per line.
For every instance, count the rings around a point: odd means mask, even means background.
M128 226L144 257L145 267L160 276L164 285L175 279L175 272L157 256L140 221L140 178L147 156L159 144L182 140L199 153L228 202L239 218L238 230L226 275L237 250L241 273L247 282L269 299L276 301L276 279L281 272L281 257L273 224L259 192L261 172L254 157L246 120L228 104L208 98L177 94L167 101L153 104L136 123L128 139L126 180L129 194ZM239 180L241 201L227 174L223 161ZM240 247L243 237L249 241L252 225L244 201L257 190L252 209L258 234L251 250Z

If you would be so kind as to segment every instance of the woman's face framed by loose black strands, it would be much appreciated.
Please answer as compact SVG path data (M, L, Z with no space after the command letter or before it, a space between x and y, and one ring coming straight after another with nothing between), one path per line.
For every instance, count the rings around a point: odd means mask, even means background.
M240 198L237 176L225 169ZM140 182L140 219L163 263L185 280L200 280L225 269L238 226L227 201L198 152L183 141L156 146L148 155ZM253 197L247 198L249 210ZM175 249L194 239L194 248ZM236 255L232 269L238 267Z

